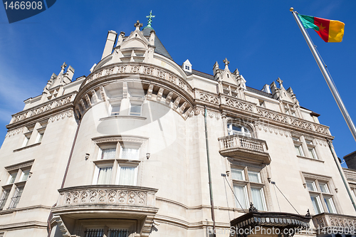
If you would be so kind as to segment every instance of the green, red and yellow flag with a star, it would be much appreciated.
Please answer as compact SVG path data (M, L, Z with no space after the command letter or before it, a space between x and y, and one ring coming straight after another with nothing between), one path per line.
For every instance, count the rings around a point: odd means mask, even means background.
M341 42L345 23L298 14L304 28L313 28L325 42Z

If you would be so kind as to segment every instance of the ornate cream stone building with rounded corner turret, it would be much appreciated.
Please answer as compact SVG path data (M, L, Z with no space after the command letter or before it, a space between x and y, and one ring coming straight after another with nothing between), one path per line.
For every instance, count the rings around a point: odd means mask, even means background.
M150 23L109 31L88 76L74 80L64 63L12 115L0 236L229 236L255 226L320 236L355 226L356 173L345 177L317 113L279 78L248 87L227 59L212 75L178 65Z

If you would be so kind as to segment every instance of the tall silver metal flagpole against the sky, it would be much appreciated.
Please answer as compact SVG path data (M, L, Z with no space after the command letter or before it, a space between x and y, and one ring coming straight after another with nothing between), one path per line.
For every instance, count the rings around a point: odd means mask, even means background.
M294 11L293 7L290 8L290 11L293 13L294 19L297 22L297 24L300 28L300 31L302 31L305 41L307 41L310 51L313 53L315 61L316 61L316 63L318 63L321 73L323 73L326 83L328 83L328 86L331 90L331 93L333 94L333 97L337 103L337 106L339 107L339 109L342 113L342 116L344 117L344 119L347 123L347 126L349 127L349 129L352 133L352 136L354 137L354 139L356 141L356 127L355 127L354 123L352 122L351 117L350 117L349 113L347 112L346 107L345 107L344 103L342 102L341 97L340 97L339 93L337 92L334 83L332 83L330 75L329 75L328 71L325 69L323 61L321 60L320 56L318 55L317 51L315 50L314 45L313 45L312 41L310 40L307 32L305 31L303 24L300 22L300 20L297 16L297 12Z

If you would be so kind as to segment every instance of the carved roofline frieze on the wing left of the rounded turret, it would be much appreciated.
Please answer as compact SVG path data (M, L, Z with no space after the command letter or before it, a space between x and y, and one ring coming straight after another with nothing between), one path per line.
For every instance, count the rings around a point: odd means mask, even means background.
M57 100L49 101L46 102L44 105L41 105L39 107L34 107L32 109L24 110L22 112L18 112L17 114L13 115L12 120L10 124L14 122L19 122L21 120L25 120L29 117L33 117L35 115L39 115L43 112L46 112L48 110L53 110L56 107L66 105L69 102L72 102L74 100L75 95L67 95L64 98L58 98Z

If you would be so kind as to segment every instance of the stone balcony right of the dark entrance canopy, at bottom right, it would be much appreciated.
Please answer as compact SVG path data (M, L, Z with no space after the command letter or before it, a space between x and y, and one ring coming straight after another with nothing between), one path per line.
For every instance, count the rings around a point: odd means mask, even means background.
M335 229L350 230L356 226L356 216L346 216L341 214L321 213L313 216L315 228L323 229L335 227Z

